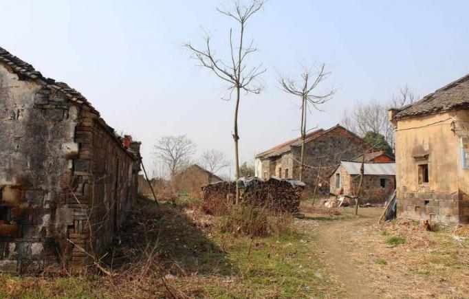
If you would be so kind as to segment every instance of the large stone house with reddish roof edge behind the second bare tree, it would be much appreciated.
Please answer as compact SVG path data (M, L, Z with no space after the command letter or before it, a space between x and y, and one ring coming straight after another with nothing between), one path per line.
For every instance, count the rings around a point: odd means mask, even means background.
M255 159L256 176L262 179L279 177L281 179L299 179L301 168L301 137L259 153ZM378 151L339 124L330 129L318 129L306 135L305 168L303 181L305 192L312 192L318 181L320 168L320 189L329 193L329 177L341 160L349 160L364 152Z

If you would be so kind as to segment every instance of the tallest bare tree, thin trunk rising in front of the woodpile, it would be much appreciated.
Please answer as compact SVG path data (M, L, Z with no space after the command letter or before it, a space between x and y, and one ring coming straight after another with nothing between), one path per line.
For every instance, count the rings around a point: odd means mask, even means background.
M219 58L212 47L210 46L210 36L206 35L204 38L204 47L194 47L191 43L184 45L191 53L192 58L200 63L201 67L206 67L218 78L228 84L229 97L231 98L232 92L236 93L235 102L235 117L233 124L232 137L235 141L235 169L236 179L239 179L239 134L238 134L238 112L239 102L241 100L241 91L246 93L260 93L262 86L259 84L257 78L265 69L262 65L248 67L247 58L253 52L257 51L253 47L253 41L245 45L245 30L246 24L250 17L256 12L259 12L263 7L264 0L250 0L248 4L242 3L240 0L232 1L231 8L217 8L217 11L224 16L228 16L235 20L239 29L237 41L233 41L233 30L230 28L229 33L229 51L230 58L223 61ZM239 203L239 186L236 187L236 203Z

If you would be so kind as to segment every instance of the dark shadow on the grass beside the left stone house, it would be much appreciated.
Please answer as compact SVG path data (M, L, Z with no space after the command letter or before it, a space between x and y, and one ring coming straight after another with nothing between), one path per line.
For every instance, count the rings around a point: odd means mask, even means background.
M206 232L204 232L206 230ZM207 238L208 228L200 227L182 208L140 197L133 205L119 239L113 242L106 263L119 271L129 263L149 260L164 273L230 275L237 269L226 253Z

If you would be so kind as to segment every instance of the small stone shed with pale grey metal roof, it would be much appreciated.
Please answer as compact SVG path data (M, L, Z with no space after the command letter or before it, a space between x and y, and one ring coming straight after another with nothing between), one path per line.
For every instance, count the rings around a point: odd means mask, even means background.
M361 162L342 161L330 177L331 193L356 196ZM364 163L360 203L384 203L395 190L395 163Z

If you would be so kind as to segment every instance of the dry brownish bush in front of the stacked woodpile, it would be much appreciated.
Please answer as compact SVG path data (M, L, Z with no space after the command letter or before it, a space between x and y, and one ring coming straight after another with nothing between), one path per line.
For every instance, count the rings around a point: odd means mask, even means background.
M221 232L245 234L249 236L279 236L292 222L290 214L274 214L262 208L232 206L221 218Z

